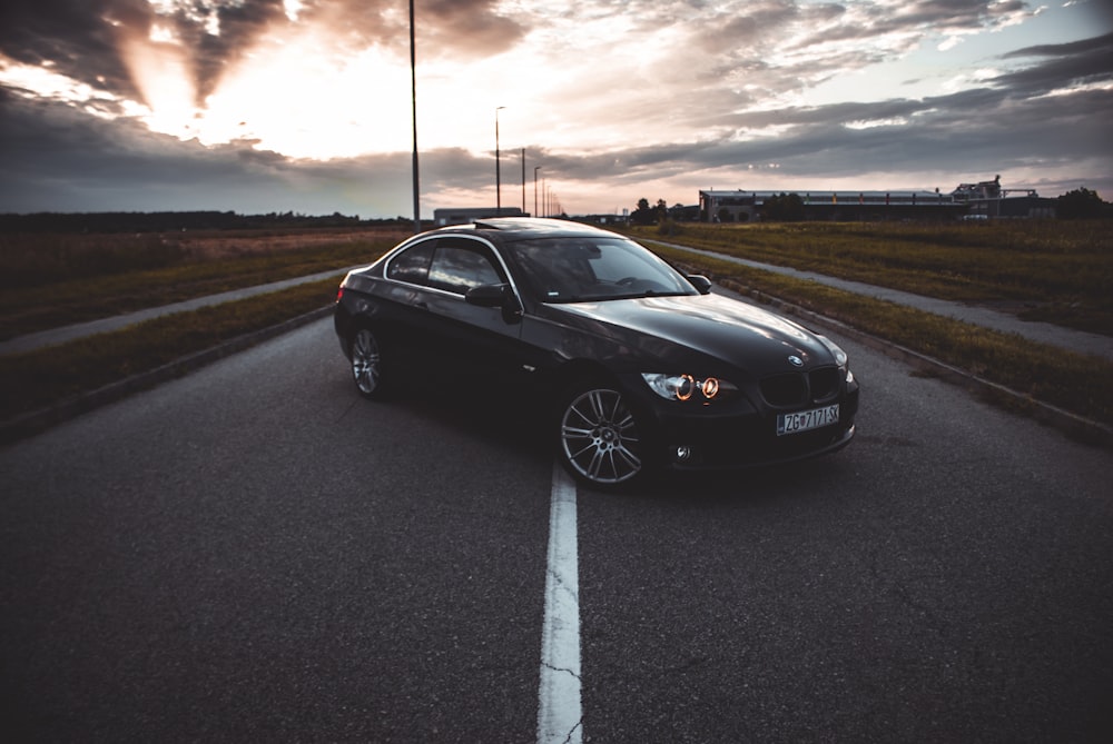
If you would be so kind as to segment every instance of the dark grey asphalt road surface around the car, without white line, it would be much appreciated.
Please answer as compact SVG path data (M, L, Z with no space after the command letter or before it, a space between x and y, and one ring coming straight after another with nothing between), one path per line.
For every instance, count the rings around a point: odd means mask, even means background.
M840 343L843 453L577 495L584 741L1111 741L1113 458ZM495 394L366 403L324 320L0 449L0 736L535 741Z

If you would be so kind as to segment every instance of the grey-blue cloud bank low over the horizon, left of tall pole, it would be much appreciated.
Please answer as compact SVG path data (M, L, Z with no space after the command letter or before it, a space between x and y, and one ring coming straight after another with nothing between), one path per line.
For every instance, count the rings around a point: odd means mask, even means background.
M250 142L203 147L53 102L0 107L0 212L194 210L395 216L408 155L292 161Z

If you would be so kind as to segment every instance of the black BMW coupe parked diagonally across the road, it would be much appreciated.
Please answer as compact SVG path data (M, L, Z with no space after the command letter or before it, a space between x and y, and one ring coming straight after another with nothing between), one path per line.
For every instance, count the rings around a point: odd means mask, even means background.
M545 404L558 456L592 486L791 462L855 433L858 384L838 346L575 222L410 238L347 275L335 328L367 398L432 374Z

